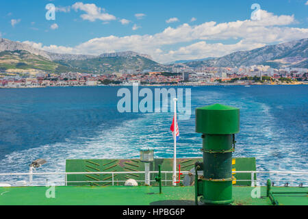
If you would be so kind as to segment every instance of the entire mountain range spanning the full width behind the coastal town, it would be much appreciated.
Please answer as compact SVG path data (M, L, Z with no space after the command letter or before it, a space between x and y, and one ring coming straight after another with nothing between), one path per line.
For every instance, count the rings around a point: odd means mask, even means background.
M103 53L101 55L73 55L51 53L29 44L0 38L0 70L43 70L53 73L78 71L81 73L114 73L119 70L170 70L172 67L199 68L235 67L263 64L274 68L284 66L308 68L308 38L269 45L251 51L238 51L223 57L201 60L182 60L172 64L159 64L150 55L133 51Z

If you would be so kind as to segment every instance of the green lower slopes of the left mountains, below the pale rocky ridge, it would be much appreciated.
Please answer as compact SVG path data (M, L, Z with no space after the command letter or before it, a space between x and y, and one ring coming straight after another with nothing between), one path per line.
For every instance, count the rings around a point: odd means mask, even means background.
M27 51L0 52L0 70L23 69L44 70L51 73L75 71L80 73L114 73L123 69L155 70L160 65L157 62L139 55L117 57L95 57L87 60L58 60L51 61L41 55Z

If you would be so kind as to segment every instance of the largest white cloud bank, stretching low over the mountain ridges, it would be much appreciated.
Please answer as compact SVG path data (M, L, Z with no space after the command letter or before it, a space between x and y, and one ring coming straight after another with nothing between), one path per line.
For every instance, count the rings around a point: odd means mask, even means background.
M148 53L157 62L189 60L203 57L219 57L234 51L246 51L263 47L266 44L287 42L307 38L307 28L287 27L296 23L293 15L277 16L261 11L260 21L231 21L216 23L209 21L201 25L184 23L178 27L168 27L153 35L105 36L94 38L76 47L43 46L38 49L57 53L76 53L99 55L109 51L132 50ZM138 29L137 25L134 25ZM224 40L236 40L233 44L224 44ZM222 41L211 43L211 40ZM179 47L177 44L188 44ZM29 42L28 42L29 44ZM170 49L173 48L173 49Z

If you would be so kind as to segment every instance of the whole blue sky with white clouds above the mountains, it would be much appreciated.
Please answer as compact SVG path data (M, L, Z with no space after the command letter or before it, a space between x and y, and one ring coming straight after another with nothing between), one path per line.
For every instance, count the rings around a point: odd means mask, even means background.
M55 21L45 18L48 3ZM253 3L261 7L258 21ZM308 38L307 12L307 0L3 0L0 34L58 53L133 50L171 62Z

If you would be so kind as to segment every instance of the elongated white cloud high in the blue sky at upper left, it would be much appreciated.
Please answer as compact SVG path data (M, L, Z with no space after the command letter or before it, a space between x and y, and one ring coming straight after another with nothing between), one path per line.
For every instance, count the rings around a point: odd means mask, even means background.
M77 12L78 10L86 12L86 14L81 14L81 18L87 21L114 21L116 16L108 14L105 9L97 7L95 4L84 4L82 2L77 2L72 5L72 8Z

